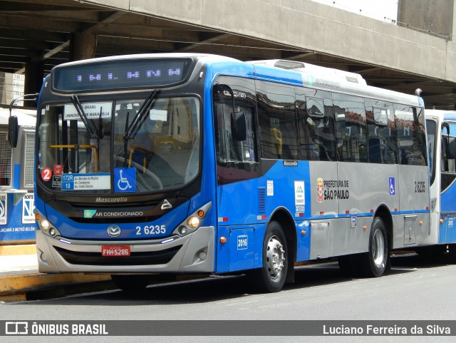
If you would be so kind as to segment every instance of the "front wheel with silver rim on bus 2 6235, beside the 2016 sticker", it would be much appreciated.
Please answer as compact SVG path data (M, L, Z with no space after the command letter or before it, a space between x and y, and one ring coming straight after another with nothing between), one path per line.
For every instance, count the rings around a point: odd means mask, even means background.
M279 222L270 222L263 241L263 267L249 273L250 286L257 292L279 292L286 280L289 257L286 238Z

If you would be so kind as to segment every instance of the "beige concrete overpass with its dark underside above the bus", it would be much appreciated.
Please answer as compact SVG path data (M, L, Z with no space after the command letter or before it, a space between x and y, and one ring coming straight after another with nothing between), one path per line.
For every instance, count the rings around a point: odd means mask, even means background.
M65 61L186 51L353 71L371 86L421 88L427 108L456 109L452 31L435 36L310 0L0 0L0 10L0 71L26 73L26 93Z

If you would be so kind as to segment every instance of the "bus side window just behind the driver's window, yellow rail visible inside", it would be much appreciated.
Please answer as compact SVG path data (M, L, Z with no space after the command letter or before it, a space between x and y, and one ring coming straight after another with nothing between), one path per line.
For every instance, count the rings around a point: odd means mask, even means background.
M261 157L298 159L296 105L292 86L256 81Z

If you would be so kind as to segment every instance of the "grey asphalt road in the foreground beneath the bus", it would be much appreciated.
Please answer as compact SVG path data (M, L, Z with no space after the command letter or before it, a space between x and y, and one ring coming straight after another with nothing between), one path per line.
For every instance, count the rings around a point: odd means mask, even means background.
M232 324L239 336L187 336L186 322L162 322L176 325L182 336L160 337L83 337L84 342L456 342L452 336L290 336L254 337L249 325L264 325L269 332L283 332L286 325L310 320L431 321L452 320L456 323L456 265L446 257L427 261L418 255L393 257L393 267L380 278L352 279L341 274L336 263L324 263L296 268L296 282L274 294L251 294L244 277L211 277L206 280L152 285L144 292L129 294L106 291L71 297L0 304L0 320L131 320L118 322L130 329L141 323L159 320L195 320L191 325L210 326L208 320L239 320L245 325ZM147 322L138 322L138 321ZM296 322L295 322L296 323ZM360 326L364 322L360 322ZM218 322L217 324L220 324ZM224 324L224 322L222 322ZM356 324L356 322L355 322ZM230 323L227 323L229 327ZM295 324L296 325L296 324ZM455 324L456 325L456 324ZM179 326L179 327L177 327ZM188 329L188 327L187 327ZM296 329L296 326L295 326ZM222 326L221 332L229 330ZM146 330L147 332L147 330ZM190 331L188 331L190 332ZM226 334L226 333L225 333ZM246 335L244 335L246 334ZM62 342L62 337L6 337L2 342ZM9 340L12 339L12 340ZM79 337L65 337L65 342L81 342Z

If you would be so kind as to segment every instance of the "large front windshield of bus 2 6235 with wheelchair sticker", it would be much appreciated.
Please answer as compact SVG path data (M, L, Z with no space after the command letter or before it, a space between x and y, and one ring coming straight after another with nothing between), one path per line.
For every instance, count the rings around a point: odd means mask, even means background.
M143 106L150 99L44 105L38 178L50 190L105 195L189 183L199 172L199 100L157 96Z

